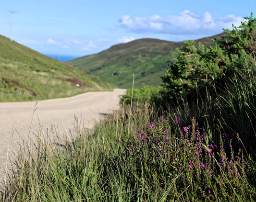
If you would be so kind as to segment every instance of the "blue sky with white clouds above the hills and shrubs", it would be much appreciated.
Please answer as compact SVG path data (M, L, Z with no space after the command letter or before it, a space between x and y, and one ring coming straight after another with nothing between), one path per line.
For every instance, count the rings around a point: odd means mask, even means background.
M256 8L256 0L1 1L1 35L11 38L12 27L12 40L22 45L71 56L140 38L177 42L220 34ZM13 21L9 11L16 11Z

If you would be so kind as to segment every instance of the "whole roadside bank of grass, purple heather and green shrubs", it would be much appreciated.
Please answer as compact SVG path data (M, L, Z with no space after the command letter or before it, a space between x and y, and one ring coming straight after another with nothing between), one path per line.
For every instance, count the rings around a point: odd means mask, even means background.
M186 42L162 87L128 89L93 131L24 146L1 200L256 201L256 19L224 31Z

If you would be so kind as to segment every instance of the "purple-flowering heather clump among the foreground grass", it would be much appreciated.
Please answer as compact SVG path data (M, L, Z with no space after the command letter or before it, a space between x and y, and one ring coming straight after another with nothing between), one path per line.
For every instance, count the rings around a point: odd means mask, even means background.
M250 186L244 183L247 178L246 162L241 150L234 156L232 145L227 146L231 142L222 143L219 148L213 144L206 146L207 134L193 121L194 124L184 126L179 133L166 119L145 126L138 125L133 129L133 135L122 142L123 155L143 165L144 176L148 179L153 176L152 180L157 179L159 185L165 183L167 177L183 173L175 187L187 187L188 198L192 190L193 197L201 196L205 200L213 200L216 196L224 201L231 196L236 198ZM221 142L225 141L224 137ZM227 147L230 149L229 156ZM165 169L161 169L163 167ZM142 170L138 168L133 173L139 178ZM252 194L248 193L241 200L251 199Z

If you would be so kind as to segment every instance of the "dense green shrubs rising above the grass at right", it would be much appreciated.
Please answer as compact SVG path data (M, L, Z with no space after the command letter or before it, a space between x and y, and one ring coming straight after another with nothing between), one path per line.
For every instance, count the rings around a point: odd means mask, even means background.
M222 88L235 73L247 67L246 61L255 61L256 19L244 18L238 28L224 29L226 36L215 39L215 46L205 49L204 45L195 47L194 41L186 41L179 50L176 62L166 70L162 77L163 86L169 97L182 94L192 95L195 90L207 87ZM214 85L213 85L214 84Z

